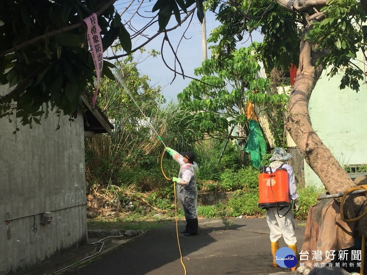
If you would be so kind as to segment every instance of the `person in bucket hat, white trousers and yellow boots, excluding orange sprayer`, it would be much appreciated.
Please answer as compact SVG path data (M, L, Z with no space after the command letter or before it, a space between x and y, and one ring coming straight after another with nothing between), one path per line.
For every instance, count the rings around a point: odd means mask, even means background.
M274 173L277 168L285 168L288 174L288 185L289 185L289 201L293 201L293 208L295 212L299 210L298 194L294 178L293 167L287 164L293 155L287 153L283 148L275 148L270 163L271 172ZM268 167L266 171L270 173ZM273 207L266 209L266 222L270 228L270 241L271 250L273 254L273 266L278 267L275 261L275 252L279 249L278 239L283 235L283 239L290 249L293 250L295 256L298 258L297 252L297 239L294 232L294 217L291 211L291 205L289 207ZM292 268L292 271L297 270L297 265Z

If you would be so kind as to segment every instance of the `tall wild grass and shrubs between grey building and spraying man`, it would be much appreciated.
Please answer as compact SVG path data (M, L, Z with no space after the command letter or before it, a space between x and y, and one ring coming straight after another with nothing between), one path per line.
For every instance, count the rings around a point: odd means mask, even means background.
M121 104L106 104L110 109L105 111L115 126L112 135L101 134L86 140L87 196L94 201L99 198L99 207L111 201L116 202L112 206L119 208L123 202L118 201L127 202L131 192L154 192L171 185L161 174L160 160L165 148L157 135L175 150L194 148L195 135L188 128L192 116L188 112L172 103L162 105L158 93L156 97L140 94L135 100L148 121L118 89L114 87L113 93L121 97ZM178 168L164 153L165 174L177 176Z

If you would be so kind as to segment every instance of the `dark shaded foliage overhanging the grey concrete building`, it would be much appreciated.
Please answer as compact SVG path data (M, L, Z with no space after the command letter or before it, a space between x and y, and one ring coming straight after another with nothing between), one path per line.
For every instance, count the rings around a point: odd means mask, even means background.
M0 5L0 84L13 88L0 97L0 117L15 113L22 125L39 124L52 110L76 116L81 94L91 98L94 63L82 20L92 12L99 15L102 54L117 38L131 50L120 15L98 0L3 0ZM102 74L113 78L109 67L105 61Z

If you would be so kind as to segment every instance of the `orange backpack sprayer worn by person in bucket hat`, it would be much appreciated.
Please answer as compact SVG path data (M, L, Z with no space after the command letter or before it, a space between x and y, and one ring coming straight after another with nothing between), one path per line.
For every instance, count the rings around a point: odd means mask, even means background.
M259 207L289 207L288 173L286 168L277 168L275 173L266 172L266 166L260 167Z

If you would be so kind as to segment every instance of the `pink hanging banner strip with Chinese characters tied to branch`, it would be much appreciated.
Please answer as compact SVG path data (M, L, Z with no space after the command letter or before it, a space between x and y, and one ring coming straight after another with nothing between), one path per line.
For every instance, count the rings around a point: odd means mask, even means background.
M100 34L101 28L98 25L97 15L95 13L92 13L89 17L87 17L83 21L87 24L88 44L93 57L95 71L97 73L97 87L95 88L94 96L92 99L94 107L98 93L99 80L101 79L103 68L103 47Z

